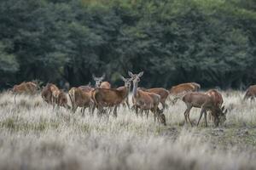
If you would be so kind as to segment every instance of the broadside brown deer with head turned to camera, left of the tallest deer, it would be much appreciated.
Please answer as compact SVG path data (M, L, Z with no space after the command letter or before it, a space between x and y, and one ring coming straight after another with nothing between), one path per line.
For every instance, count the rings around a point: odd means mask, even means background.
M126 80L124 77L122 79L124 82L130 81L130 79ZM96 88L93 90L92 99L98 109L98 113L102 114L103 107L114 107L113 116L117 116L117 108L129 94L128 90L127 83L125 83L125 88Z

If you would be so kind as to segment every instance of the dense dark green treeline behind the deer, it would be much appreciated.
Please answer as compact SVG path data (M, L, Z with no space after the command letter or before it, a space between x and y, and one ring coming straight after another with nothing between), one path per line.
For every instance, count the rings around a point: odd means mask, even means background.
M144 87L256 83L254 0L0 0L0 87L87 84L144 71Z

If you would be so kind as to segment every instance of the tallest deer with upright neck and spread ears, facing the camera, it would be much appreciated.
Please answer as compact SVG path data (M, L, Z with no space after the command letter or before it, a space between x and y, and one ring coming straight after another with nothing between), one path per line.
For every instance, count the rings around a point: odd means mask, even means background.
M143 76L143 71L138 74L133 74L131 71L128 72L129 76L133 82L132 89L132 102L135 105L136 114L138 115L138 108L143 111L152 111L154 114L154 121L157 120L164 125L166 125L166 116L160 112L158 105L160 104L160 95L144 92L143 90L137 89L138 82L140 82L140 77Z

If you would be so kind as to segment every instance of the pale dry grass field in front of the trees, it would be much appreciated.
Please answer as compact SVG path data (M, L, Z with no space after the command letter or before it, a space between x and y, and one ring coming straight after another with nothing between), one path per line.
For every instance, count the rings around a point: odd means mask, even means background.
M120 108L118 117L53 111L40 95L0 95L0 169L255 169L256 105L222 92L229 109L221 127L190 127L178 101L167 126L153 115ZM199 109L192 109L196 122Z

